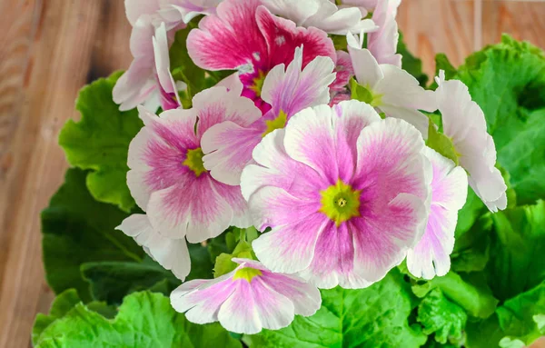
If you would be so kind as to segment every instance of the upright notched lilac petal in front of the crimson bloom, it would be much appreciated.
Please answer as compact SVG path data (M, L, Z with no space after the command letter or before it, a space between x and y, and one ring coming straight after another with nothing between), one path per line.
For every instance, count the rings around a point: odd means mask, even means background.
M292 63L284 73L284 66L277 65L265 78L262 98L272 105L272 114L281 112L292 116L302 109L329 102L330 85L335 79L333 62L318 56L302 69L303 49L297 47Z

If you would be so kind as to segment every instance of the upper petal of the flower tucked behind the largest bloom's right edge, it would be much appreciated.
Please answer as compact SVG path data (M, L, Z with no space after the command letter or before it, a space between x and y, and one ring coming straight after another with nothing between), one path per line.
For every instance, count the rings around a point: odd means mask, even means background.
M431 162L431 203L441 205L449 211L458 211L468 195L468 175L460 166L443 157L429 147L424 154Z

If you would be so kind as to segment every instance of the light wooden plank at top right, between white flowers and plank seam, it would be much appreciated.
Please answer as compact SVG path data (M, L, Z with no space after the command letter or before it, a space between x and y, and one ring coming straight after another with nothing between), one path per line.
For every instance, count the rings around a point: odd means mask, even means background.
M422 60L424 72L435 73L435 55L446 54L455 66L474 49L473 0L405 0L398 23L411 53Z

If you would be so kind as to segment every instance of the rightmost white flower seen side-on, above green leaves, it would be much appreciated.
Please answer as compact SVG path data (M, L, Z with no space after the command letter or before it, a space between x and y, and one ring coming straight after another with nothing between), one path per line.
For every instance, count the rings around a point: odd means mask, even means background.
M461 81L445 81L441 70L435 78L443 134L451 138L460 165L468 171L469 183L490 212L507 207L507 185L496 164L496 146L486 131L486 120L479 104Z

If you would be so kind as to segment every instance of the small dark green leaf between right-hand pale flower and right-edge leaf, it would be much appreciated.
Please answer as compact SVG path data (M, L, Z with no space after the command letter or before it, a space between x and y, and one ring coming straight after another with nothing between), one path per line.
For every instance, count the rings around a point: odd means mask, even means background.
M451 269L456 272L482 271L490 258L492 219L484 214L471 229L456 238L451 254Z

